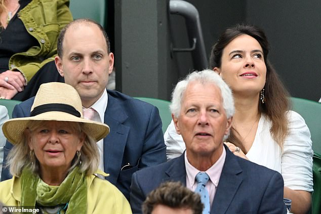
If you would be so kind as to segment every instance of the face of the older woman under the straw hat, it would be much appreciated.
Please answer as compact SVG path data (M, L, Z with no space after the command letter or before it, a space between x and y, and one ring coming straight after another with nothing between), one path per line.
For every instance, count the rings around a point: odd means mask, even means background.
M42 179L55 174L63 180L76 151L84 144L85 134L79 134L71 122L59 121L46 121L26 133L29 148L40 163Z

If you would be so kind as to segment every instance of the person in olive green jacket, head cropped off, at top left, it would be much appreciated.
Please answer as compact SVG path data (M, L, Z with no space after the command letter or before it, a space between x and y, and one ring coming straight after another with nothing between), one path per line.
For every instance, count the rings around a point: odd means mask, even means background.
M0 98L26 100L42 83L63 82L54 57L72 21L69 0L0 0Z

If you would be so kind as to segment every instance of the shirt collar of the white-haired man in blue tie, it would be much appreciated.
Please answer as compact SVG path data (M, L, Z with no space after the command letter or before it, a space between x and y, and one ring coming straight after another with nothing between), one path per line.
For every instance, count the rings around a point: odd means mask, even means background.
M220 158L208 170L205 171L209 175L210 181L214 184L215 187L218 186L218 182L220 180L222 169L225 163L225 157L226 157L226 151L225 151L225 148L223 147L223 152ZM184 160L185 160L185 168L186 168L186 175L187 175L186 182L189 182L190 187L192 187L195 183L195 177L196 177L196 174L199 172L199 170L196 169L194 166L192 166L188 162L186 152L184 154Z

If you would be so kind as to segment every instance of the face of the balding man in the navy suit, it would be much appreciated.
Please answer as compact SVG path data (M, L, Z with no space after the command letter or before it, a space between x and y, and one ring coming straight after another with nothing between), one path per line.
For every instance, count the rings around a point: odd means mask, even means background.
M88 22L75 23L67 29L62 57L55 58L60 75L78 91L86 108L103 94L113 61L103 33Z

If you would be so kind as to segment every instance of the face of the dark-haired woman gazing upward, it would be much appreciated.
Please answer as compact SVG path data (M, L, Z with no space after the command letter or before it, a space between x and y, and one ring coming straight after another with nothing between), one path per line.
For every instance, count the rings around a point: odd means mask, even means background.
M256 39L243 34L223 50L221 67L215 67L234 94L258 95L266 80L263 50Z

